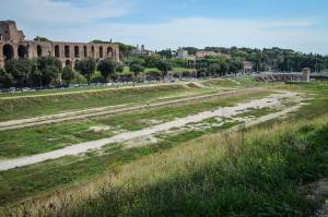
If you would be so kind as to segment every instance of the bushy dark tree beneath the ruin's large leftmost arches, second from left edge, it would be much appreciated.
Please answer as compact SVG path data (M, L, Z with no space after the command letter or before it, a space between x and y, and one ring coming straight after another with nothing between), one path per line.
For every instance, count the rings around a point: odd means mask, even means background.
M8 60L5 61L4 68L5 71L17 81L21 88L27 83L32 70L32 64L28 59Z

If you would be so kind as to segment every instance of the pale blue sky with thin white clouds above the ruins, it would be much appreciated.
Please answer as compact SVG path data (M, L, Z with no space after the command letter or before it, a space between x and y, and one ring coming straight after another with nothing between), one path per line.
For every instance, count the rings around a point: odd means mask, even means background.
M282 47L328 55L328 0L0 0L28 39Z

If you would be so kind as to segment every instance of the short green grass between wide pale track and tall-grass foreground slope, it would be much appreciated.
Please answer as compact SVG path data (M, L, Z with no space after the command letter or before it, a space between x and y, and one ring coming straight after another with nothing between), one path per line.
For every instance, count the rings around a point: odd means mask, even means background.
M125 164L143 156L164 152L208 132L187 131L176 135L159 136L160 142L140 148L122 148L119 144L107 145L104 154L89 153L84 157L63 157L31 167L0 172L0 207L20 200L52 192L58 188L77 185L104 172L115 172Z

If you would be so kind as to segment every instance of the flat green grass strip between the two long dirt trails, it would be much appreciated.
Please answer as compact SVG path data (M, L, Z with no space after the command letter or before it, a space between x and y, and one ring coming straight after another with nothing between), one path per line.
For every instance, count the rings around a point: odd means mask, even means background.
M116 130L136 131L150 126L151 120L162 122L195 114L218 107L269 95L271 92L246 92L235 96L221 96L201 101L189 101L125 114L102 116L80 121L67 121L34 128L0 131L0 157L13 158L45 153L65 146L109 137ZM112 130L95 133L89 128L110 125Z

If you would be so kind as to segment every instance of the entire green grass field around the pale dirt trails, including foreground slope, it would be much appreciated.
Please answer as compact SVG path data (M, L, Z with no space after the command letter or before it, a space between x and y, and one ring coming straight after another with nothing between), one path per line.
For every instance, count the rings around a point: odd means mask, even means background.
M297 91L307 99L297 111L233 133L221 133L239 122L214 118L185 129L154 135L152 140L107 145L84 155L0 171L0 215L9 216L309 216L323 201L308 201L302 188L328 176L328 83L258 84L249 77L208 80L200 86L173 85L113 94L97 100L63 97L65 105L99 106L167 100L221 88L269 87L200 101L115 116L51 123L0 132L2 158L49 152L84 141L136 131L219 106L268 96L274 89ZM141 93L141 94L140 94ZM98 93L99 94L99 93ZM104 94L104 95L103 95ZM115 96L113 96L115 95ZM127 96L126 96L127 95ZM122 96L126 97L122 99ZM30 109L51 108L46 100ZM66 98L68 97L68 98ZM77 96L74 96L77 97ZM78 99L78 100L77 100ZM109 99L110 100L109 103ZM27 99L26 99L27 100ZM36 100L36 99L35 99ZM37 98L38 100L38 98ZM73 101L73 103L72 103ZM37 105L39 104L39 105ZM23 117L24 107L16 104ZM33 106L32 106L33 105ZM72 106L73 105L73 106ZM14 105L15 106L15 105ZM82 108L86 108L87 106ZM289 106L286 103L285 106ZM292 104L290 106L293 106ZM61 107L59 105L59 107ZM27 107L28 108L28 107ZM52 108L51 108L52 109ZM56 110L58 109L58 110ZM62 108L56 108L56 113ZM262 117L277 108L250 109L235 116ZM1 111L2 112L2 111ZM21 113L20 113L21 112ZM207 128L195 128L203 124ZM91 126L110 126L101 132ZM132 145L129 147L129 145ZM1 162L0 162L1 164ZM24 202L24 203L23 203Z

